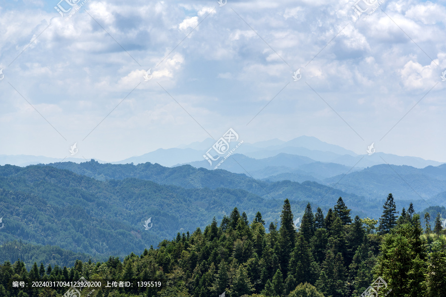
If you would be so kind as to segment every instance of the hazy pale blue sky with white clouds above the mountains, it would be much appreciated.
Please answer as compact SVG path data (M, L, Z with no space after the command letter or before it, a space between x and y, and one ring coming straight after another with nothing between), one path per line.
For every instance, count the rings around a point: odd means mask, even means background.
M444 0L69 1L0 1L0 154L116 161L233 128L446 161Z

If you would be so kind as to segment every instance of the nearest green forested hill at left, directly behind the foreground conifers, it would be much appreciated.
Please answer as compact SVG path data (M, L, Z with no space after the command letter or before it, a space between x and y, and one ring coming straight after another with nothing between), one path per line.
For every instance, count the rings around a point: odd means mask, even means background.
M98 181L50 166L0 166L0 242L23 240L92 255L142 252L233 207L279 219L280 200L236 189L184 189L135 178ZM305 201L293 201L302 213ZM152 226L144 223L151 218Z

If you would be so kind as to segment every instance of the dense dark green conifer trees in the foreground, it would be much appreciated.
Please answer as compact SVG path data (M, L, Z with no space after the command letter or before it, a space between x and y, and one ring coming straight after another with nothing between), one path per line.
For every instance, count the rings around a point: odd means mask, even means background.
M10 282L80 277L163 284L161 290L98 289L90 295L98 297L350 297L360 296L378 277L392 297L445 296L441 224L425 231L413 207L397 217L391 194L377 232L376 223L352 219L342 198L326 215L320 208L314 213L308 203L299 228L287 199L279 226L266 227L260 212L249 222L246 213L234 208L220 225L214 219L203 231L178 233L174 240L140 256L131 253L122 262L114 257L96 263L77 260L71 268L34 263L29 271L20 260L5 262L0 265L0 297L58 297L66 289L19 291Z

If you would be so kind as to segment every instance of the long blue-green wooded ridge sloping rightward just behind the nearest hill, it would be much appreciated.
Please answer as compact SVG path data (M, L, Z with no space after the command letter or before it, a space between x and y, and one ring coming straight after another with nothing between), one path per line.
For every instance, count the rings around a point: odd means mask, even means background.
M162 185L174 185L183 188L227 188L241 189L267 199L306 200L328 209L337 198L342 197L350 205L354 214L361 217L379 217L382 198L364 199L351 193L333 189L316 182L266 182L255 180L244 174L226 170L207 170L190 165L164 167L159 164L100 164L95 160L76 164L73 162L52 163L47 166L67 169L74 173L93 177L98 180L138 178L150 180Z

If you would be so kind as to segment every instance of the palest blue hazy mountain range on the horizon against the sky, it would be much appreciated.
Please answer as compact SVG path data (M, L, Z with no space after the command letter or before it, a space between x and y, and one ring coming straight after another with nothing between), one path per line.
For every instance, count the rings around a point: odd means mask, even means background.
M206 139L203 142L195 142L190 145L182 145L177 148L160 148L152 152L148 152L141 156L130 157L121 161L111 162L112 164L126 164L126 163L158 163L163 166L171 167L179 164L191 164L195 167L212 168L203 155L216 143L213 139ZM243 143L236 152L243 154L253 159L267 159L275 157L281 153L297 155L301 157L310 158L313 162L335 163L347 166L349 168L366 168L379 164L394 164L394 165L408 165L416 168L424 168L426 166L438 166L441 162L433 160L424 160L418 157L397 156L383 152L376 152L373 155L367 155L364 151L363 155L358 155L351 150L328 144L315 137L301 136L290 141L284 142L279 139L269 141L257 142L254 144ZM64 161L84 162L82 158L66 158ZM62 159L50 158L44 156L29 156L29 155L0 155L0 165L11 164L17 166L26 166L31 164L48 164L60 162ZM101 163L104 161L97 160ZM265 161L261 161L264 162ZM253 162L251 162L253 164ZM253 164L254 166L254 164ZM260 170L264 165L255 165ZM271 164L269 166L280 166ZM229 168L228 168L229 170ZM237 169L238 170L238 169ZM249 170L247 170L249 171ZM238 171L234 171L238 172ZM283 173L277 172L277 174ZM254 173L251 173L254 174Z

